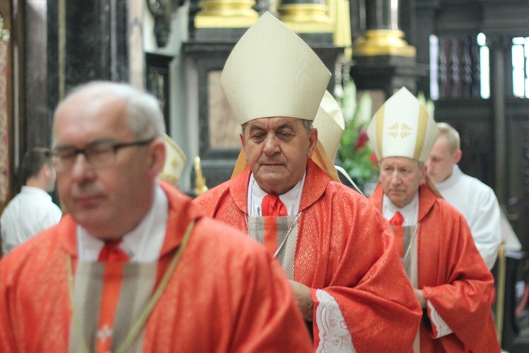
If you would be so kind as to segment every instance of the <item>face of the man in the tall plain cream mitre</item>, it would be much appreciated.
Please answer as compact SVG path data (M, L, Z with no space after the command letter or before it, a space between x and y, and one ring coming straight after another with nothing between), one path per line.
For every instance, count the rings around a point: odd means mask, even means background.
M284 194L298 183L317 143L317 130L308 131L296 118L250 120L241 142L253 176L262 190Z

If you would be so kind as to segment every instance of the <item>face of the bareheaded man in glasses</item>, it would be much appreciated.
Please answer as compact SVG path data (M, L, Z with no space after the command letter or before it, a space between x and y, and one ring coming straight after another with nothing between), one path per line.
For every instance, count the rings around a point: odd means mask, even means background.
M93 89L92 89L93 91ZM85 149L98 142L134 142L126 104L113 92L78 92L57 111L54 148ZM58 189L68 213L101 239L133 230L152 205L162 140L117 149L108 166L93 166L78 154L68 168L58 169ZM161 145L161 147L160 147Z

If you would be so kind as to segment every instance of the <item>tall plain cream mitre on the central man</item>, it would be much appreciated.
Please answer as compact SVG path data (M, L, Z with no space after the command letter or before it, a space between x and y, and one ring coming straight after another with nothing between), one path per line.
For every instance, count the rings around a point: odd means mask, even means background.
M221 86L241 125L274 116L314 120L330 78L303 39L267 12L231 51Z

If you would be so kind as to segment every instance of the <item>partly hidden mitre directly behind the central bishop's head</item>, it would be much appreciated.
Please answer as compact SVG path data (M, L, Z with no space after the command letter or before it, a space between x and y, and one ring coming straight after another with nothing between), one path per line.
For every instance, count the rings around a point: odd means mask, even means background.
M341 106L329 91L325 91L320 108L314 119L314 127L318 130L318 140L329 154L332 161L340 147L341 135L346 128Z

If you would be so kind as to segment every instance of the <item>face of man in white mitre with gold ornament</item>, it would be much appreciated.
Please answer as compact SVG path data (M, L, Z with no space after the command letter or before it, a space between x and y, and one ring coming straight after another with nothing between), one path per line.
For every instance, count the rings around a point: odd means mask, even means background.
M380 182L384 194L397 207L406 206L425 182L426 166L406 157L387 157L380 161Z

